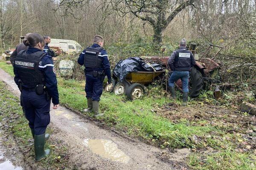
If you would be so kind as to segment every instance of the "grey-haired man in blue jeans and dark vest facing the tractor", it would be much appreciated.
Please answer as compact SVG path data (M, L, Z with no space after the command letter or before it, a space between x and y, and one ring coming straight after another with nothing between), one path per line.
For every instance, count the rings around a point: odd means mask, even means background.
M173 51L171 57L168 59L168 65L173 71L169 79L169 89L172 98L176 98L174 82L181 79L183 104L186 104L189 95L189 71L191 70L191 67L195 65L195 58L192 52L186 49L185 38L180 41L179 49Z

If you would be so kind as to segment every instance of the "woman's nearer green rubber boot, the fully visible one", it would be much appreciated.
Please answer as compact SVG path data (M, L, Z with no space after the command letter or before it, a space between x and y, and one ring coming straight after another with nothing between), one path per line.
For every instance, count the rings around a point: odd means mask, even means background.
M41 135L35 135L35 161L40 161L50 154L50 150L44 150L45 133Z

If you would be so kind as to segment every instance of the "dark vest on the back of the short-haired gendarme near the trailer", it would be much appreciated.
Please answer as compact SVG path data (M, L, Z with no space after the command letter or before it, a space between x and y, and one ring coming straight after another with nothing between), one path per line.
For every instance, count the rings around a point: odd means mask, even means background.
M85 68L101 68L102 67L102 59L98 57L99 52L102 50L102 47L85 48L84 52L84 67Z

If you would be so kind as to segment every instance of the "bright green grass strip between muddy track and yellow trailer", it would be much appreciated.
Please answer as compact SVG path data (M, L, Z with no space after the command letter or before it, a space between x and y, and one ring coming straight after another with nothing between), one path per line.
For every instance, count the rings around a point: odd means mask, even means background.
M84 83L72 80L58 79L58 90L61 104L83 111L87 107ZM137 136L157 145L166 147L200 147L189 138L193 135L204 136L212 131L224 133L218 127L201 126L201 122L188 122L181 120L178 124L170 122L152 112L153 105L163 105L170 102L165 97L145 97L141 100L128 101L125 96L116 96L103 92L100 109L105 116L97 118L108 126L125 131L130 136ZM86 113L93 117L92 113ZM163 145L162 145L163 147Z

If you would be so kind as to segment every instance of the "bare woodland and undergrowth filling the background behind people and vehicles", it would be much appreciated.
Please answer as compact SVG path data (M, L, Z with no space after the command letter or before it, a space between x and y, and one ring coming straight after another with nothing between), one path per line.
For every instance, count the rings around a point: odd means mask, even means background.
M29 32L83 47L100 34L113 63L160 48L169 56L183 37L199 54L213 43L224 47L215 60L226 82L255 85L256 0L0 0L0 48Z

